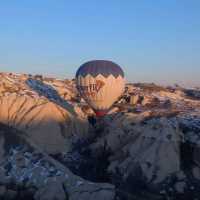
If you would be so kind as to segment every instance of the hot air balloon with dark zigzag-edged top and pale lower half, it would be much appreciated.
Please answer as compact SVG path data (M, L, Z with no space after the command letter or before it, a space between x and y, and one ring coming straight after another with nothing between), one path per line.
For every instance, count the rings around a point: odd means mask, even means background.
M76 84L80 95L96 115L104 116L124 92L124 72L111 61L89 61L78 69Z

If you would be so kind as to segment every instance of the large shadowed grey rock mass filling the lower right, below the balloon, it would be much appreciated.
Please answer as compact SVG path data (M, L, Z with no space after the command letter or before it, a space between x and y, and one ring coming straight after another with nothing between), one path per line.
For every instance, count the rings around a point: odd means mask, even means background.
M108 116L103 123L101 136L89 148L110 152L108 174L117 184L121 180L123 191L146 188L165 197L199 194L198 116L166 110L130 112Z

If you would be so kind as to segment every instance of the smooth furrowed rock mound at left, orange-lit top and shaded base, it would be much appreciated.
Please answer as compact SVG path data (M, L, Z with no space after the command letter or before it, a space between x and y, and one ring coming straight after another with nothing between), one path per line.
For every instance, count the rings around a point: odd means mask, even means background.
M67 137L81 137L87 133L87 121L69 110L45 98L17 94L0 98L0 121L25 131L34 142L51 154L70 148Z

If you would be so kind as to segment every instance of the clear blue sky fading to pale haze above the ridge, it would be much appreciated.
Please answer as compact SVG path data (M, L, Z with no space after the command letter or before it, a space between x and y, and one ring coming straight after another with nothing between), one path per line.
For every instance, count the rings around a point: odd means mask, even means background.
M0 71L71 78L92 59L133 82L200 85L200 0L0 1Z

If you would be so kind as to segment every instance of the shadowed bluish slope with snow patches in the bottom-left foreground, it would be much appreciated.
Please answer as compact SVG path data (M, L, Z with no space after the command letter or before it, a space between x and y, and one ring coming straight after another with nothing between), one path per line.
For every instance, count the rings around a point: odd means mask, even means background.
M49 157L26 135L0 124L0 195L33 188L34 199L114 199L114 186L88 182ZM12 184L12 186L11 186ZM11 190L10 189L10 190ZM9 192L11 195L11 192Z

